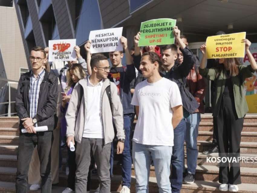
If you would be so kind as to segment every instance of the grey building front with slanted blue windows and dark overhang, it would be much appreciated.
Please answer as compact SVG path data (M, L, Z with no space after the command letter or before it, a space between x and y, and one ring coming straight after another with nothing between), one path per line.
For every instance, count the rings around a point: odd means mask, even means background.
M200 57L196 45L218 31L246 32L257 42L256 0L14 0L27 62L33 46L47 47L51 39L76 39L85 57L89 32L123 27L129 48L141 22L177 19L181 34ZM200 46L199 46L200 47ZM125 58L124 58L125 59ZM125 60L124 60L125 61ZM207 93L206 103L209 104Z

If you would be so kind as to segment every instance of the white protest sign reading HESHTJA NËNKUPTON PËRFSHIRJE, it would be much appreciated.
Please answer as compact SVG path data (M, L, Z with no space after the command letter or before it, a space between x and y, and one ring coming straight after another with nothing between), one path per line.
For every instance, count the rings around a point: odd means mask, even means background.
M122 51L123 47L120 43L122 29L123 27L91 31L89 33L89 40L92 42L90 52L93 54L99 52Z

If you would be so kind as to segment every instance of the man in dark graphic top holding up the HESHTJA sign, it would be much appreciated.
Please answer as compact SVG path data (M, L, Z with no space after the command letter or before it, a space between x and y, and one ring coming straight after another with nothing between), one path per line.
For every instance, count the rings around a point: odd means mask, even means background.
M123 121L125 130L125 139L122 139L124 143L124 151L122 152L122 193L130 192L131 183L131 149L130 149L130 136L131 128L134 120L134 106L131 105L131 93L130 93L130 83L136 77L135 66L133 65L133 58L130 55L128 49L127 39L121 37L120 39L123 49L125 50L126 56L126 66L122 66L122 51L109 52L109 58L112 63L112 68L108 74L108 78L111 82L115 83L118 88L119 95L122 101L123 107ZM113 169L113 145L110 157L110 174L112 175Z

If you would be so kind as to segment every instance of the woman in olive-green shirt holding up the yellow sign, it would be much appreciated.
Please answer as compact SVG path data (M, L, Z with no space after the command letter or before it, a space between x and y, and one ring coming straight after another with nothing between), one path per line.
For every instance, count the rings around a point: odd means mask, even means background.
M246 78L253 76L257 64L249 47L251 42L243 39L246 54L249 57L250 65L241 65L237 58L220 58L216 68L205 68L206 45L200 47L203 58L200 64L199 73L208 80L216 81L216 92L213 108L213 117L217 118L217 142L219 157L231 157L238 160L240 157L241 131L244 117L248 112L245 99L243 83ZM225 160L225 159L223 159ZM230 165L230 167L229 167ZM239 163L220 163L219 182L220 191L238 191L238 184L241 184Z

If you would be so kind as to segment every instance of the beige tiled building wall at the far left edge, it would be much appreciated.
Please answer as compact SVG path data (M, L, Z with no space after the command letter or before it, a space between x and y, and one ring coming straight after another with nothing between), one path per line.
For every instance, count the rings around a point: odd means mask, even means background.
M0 25L0 78L18 81L20 74L28 70L28 63L12 1L0 1ZM11 84L11 101L15 100L16 88L17 84ZM7 81L0 80L0 103L7 100ZM5 107L6 105L0 105L0 115L6 113Z

